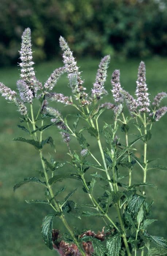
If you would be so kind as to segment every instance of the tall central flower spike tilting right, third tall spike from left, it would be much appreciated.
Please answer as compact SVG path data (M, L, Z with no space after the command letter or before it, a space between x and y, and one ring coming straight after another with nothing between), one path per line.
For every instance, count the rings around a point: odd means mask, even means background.
M108 68L109 62L110 62L109 55L105 56L100 61L99 68L97 70L96 81L93 84L93 89L92 89L92 97L94 99L100 99L104 95L108 94L108 92L104 89L104 83L107 76L107 68Z

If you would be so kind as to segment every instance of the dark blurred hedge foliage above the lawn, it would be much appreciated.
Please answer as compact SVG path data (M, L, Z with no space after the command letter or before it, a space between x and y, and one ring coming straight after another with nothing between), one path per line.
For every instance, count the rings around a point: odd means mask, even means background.
M64 36L77 55L167 54L165 0L1 0L0 65L18 61L20 36L32 30L34 58L52 59Z

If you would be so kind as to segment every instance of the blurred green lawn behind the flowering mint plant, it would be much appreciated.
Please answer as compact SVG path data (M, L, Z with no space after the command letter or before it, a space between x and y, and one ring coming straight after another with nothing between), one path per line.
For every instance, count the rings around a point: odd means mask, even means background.
M96 76L96 70L99 60L83 59L78 61L78 65L81 67L82 78L85 79L85 87L88 91L93 86L93 82ZM118 61L112 60L108 70L108 78L106 82L106 89L110 92L110 78L114 69L120 69L121 72L121 84L134 95L136 88L137 67L140 60L128 60ZM147 84L149 88L150 98L152 99L157 93L166 91L167 77L166 67L167 59L155 57L153 59L145 60ZM61 66L60 61L51 61L47 63L37 64L35 67L36 76L44 82L51 72ZM0 69L0 82L5 85L16 89L16 81L19 79L19 71L15 68L1 68ZM71 91L67 87L67 78L64 75L56 86L58 93L70 95ZM104 99L104 101L112 101L111 93ZM163 101L165 104L165 99ZM67 113L75 112L74 109L69 107L63 107L61 103L54 103L55 108L62 111L65 116ZM38 103L36 103L38 106ZM104 114L103 120L107 123L112 123L111 112L108 111ZM24 136L24 132L21 131L17 125L19 124L19 113L16 112L16 107L8 104L4 98L0 99L0 256L45 256L56 255L55 251L49 251L43 243L41 237L41 223L43 217L52 212L52 209L48 206L26 204L25 199L42 199L43 190L38 185L24 185L13 193L13 185L19 181L23 181L24 177L37 176L38 170L41 169L39 157L34 148L28 144L14 142L13 138L18 136ZM148 158L160 158L159 163L167 165L166 159L166 145L167 145L167 117L163 117L162 120L157 122L152 129L152 140L148 143ZM81 124L82 125L82 124ZM66 155L66 144L62 142L61 136L58 135L55 128L50 129L51 136L53 136L56 144L57 153L54 155L50 151L49 147L46 147L46 152L49 152L58 161L63 159L69 159ZM133 129L132 129L133 133ZM46 136L49 133L46 132ZM123 138L123 134L119 133L119 136ZM89 144L92 151L97 155L99 161L101 161L98 155L97 144L93 138L89 138ZM71 139L72 149L80 148L78 143ZM138 148L142 148L138 143ZM69 166L63 167L62 172L69 172ZM90 170L93 172L93 170ZM141 170L137 167L133 172L133 181L142 180ZM154 170L150 171L147 176L147 181L158 186L158 190L153 188L147 189L147 195L149 200L154 199L154 205L152 207L152 218L158 219L154 223L153 227L149 230L150 233L158 236L167 236L166 226L166 211L167 211L167 192L166 192L166 171ZM58 187L62 187L62 182L57 183ZM71 188L78 187L78 183L66 182L68 193ZM97 194L100 188L100 182L97 183ZM82 190L79 188L76 195L74 194L73 200L80 204L89 202L82 196ZM64 194L65 195L65 194ZM69 217L67 216L67 219ZM81 220L72 218L70 222L71 226L84 227L87 229L93 229L95 231L101 230L103 223L101 219L97 218L82 218ZM85 226L86 225L86 226ZM55 219L55 228L64 230L58 219ZM154 233L153 233L154 232Z

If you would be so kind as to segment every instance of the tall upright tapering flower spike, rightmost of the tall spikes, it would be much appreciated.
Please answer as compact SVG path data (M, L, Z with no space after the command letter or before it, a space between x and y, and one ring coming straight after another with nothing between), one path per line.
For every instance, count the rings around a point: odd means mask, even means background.
M137 76L137 87L136 87L136 96L137 96L137 105L140 107L141 112L149 112L150 101L147 93L147 84L145 83L145 64L143 61L140 62Z

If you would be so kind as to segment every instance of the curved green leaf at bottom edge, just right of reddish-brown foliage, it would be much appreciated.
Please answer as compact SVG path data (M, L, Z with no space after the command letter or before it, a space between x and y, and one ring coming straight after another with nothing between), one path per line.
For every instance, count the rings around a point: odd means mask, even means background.
M93 255L96 256L102 256L105 255L105 246L102 244L102 242L95 238L95 237L89 237L89 236L84 236L81 238L81 241L87 242L90 241L93 244Z

